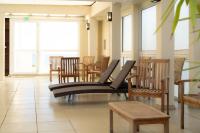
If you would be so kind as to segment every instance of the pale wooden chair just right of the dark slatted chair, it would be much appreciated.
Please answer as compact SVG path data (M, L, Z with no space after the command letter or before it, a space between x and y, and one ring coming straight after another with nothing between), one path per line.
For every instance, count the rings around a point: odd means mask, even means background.
M82 75L82 79L83 81L87 81L88 82L88 71L91 69L91 67L94 64L94 56L84 56L83 60L81 63L79 63L79 72Z

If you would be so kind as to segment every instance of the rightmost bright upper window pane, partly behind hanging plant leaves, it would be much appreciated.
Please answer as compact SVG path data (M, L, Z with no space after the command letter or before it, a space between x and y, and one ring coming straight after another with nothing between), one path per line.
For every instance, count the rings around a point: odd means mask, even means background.
M189 16L189 9L184 2L180 12L180 18L186 18L188 16ZM189 48L189 20L178 22L176 32L174 34L174 39L175 39L174 40L175 50L183 50Z

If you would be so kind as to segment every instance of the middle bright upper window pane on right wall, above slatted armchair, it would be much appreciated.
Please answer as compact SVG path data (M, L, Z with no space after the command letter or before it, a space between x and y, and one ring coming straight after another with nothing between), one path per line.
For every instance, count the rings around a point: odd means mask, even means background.
M156 6L142 10L142 50L156 50Z

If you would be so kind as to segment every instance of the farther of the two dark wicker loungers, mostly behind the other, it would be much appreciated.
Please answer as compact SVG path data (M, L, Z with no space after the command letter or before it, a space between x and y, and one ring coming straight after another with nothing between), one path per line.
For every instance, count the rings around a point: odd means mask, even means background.
M100 79L98 82L71 82L71 83L62 83L62 84L54 84L49 85L49 90L55 90L60 89L64 87L73 87L73 86L84 86L84 85L104 85L107 80L109 79L110 75L116 68L117 64L119 63L119 60L112 60L108 68L101 74Z

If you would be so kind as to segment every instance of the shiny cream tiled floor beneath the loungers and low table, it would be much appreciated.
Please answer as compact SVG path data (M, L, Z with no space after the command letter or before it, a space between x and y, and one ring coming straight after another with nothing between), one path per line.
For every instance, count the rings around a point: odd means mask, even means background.
M124 100L115 94L76 96L73 104L55 99L47 77L6 78L0 83L0 133L108 133L108 102ZM200 133L200 109L188 108L185 130L179 109L170 112L170 133ZM114 114L115 133L128 133L129 123ZM162 133L162 125L141 126L141 133Z

